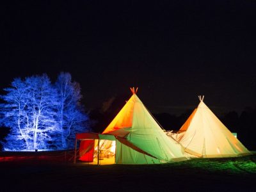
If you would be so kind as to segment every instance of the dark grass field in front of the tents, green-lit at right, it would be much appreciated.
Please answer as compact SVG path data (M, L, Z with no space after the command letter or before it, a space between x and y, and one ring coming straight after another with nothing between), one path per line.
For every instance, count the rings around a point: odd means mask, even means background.
M256 191L256 155L155 165L1 161L1 191Z

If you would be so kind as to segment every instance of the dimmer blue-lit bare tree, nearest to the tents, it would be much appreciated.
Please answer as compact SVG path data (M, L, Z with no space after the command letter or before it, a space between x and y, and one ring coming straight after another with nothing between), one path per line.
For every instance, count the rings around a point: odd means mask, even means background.
M72 81L69 73L61 72L55 83L58 95L58 125L61 130L62 148L74 146L76 132L88 129L88 115L81 106L79 83Z

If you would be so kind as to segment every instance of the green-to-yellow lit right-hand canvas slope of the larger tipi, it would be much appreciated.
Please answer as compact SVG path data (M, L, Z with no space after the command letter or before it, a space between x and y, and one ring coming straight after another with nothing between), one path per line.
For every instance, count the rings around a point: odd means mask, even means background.
M186 160L182 146L166 136L141 100L134 97L132 129L127 140L163 162Z

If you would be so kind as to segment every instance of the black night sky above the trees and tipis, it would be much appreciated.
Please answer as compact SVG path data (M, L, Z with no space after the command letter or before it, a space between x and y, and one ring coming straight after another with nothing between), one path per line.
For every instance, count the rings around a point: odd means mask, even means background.
M94 109L139 87L152 113L256 106L255 1L6 1L0 88L70 72ZM211 3L209 3L211 2ZM122 105L124 105L122 104ZM122 106L120 106L122 107Z

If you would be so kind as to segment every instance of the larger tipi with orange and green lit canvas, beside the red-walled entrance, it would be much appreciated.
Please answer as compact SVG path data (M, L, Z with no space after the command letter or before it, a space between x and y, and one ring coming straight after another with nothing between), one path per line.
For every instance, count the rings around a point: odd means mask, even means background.
M134 88L132 97L100 136L114 136L115 163L159 164L186 160L184 148L165 132L143 105ZM106 142L105 142L106 143ZM100 147L103 152L106 144Z

